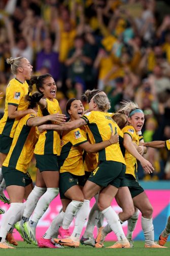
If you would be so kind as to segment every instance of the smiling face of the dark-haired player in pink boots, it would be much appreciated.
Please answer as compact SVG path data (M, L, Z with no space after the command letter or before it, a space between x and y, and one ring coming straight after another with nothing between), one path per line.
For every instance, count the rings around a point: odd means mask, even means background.
M84 107L79 99L75 99L68 110L71 120L76 120L84 114Z

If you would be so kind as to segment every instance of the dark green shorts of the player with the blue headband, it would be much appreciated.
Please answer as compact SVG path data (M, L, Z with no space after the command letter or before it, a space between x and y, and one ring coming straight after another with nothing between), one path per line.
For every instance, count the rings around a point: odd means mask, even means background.
M139 182L131 174L125 174L121 187L128 187L132 198L144 192Z

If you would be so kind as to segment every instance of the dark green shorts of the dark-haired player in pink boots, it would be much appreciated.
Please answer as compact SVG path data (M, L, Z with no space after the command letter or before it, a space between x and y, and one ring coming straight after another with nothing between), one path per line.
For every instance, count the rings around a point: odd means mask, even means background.
M59 176L59 194L60 199L66 199L64 196L65 192L75 185L84 186L86 182L85 175L78 176L70 172L60 173Z

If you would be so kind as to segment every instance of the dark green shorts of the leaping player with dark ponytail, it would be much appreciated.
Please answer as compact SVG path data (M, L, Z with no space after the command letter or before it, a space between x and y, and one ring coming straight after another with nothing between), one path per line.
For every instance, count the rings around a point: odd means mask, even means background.
M57 155L37 155L36 167L42 171L59 171Z

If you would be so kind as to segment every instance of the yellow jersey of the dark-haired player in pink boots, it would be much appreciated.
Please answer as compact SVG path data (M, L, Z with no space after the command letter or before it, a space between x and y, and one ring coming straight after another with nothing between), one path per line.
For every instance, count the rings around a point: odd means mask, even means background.
M83 150L78 145L87 142L84 127L63 132L61 154L58 158L60 173L70 172L74 175L84 175Z

